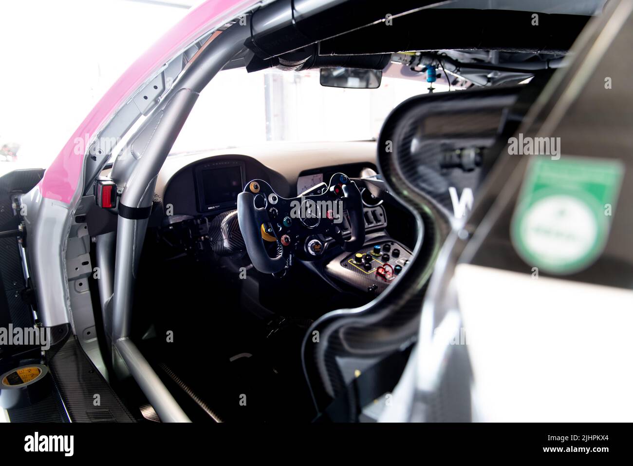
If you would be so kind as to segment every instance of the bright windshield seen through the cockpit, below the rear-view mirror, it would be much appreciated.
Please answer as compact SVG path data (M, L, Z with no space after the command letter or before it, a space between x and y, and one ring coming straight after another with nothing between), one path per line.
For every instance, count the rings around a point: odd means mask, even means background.
M413 80L386 74L377 89L339 89L321 86L319 70L222 71L200 94L172 153L266 141L375 139L396 105L429 87L422 73Z

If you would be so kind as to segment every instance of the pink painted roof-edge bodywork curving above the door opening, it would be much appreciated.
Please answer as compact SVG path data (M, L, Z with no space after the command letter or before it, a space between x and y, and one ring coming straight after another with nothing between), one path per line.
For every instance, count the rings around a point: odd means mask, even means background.
M191 10L187 16L161 37L144 55L139 57L99 100L70 136L59 155L44 173L39 183L43 197L65 204L72 202L84 166L84 154L75 153L75 141L85 134L94 136L135 91L185 47L208 30L222 25L233 15L258 3L257 0L207 0Z

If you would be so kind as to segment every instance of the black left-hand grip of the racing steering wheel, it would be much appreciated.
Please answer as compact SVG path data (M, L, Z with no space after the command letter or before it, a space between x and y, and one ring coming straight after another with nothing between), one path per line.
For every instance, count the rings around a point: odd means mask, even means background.
M261 224L268 223L266 209L255 207L255 197L251 193L242 192L237 195L237 222L253 266L263 273L282 271L285 268L285 257L279 255L272 259L268 256L261 238Z

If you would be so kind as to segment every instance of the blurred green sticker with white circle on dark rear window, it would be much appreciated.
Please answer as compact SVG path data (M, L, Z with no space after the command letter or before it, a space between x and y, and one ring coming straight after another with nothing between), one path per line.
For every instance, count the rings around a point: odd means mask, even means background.
M534 157L512 219L518 254L548 273L589 266L605 247L623 173L617 160Z

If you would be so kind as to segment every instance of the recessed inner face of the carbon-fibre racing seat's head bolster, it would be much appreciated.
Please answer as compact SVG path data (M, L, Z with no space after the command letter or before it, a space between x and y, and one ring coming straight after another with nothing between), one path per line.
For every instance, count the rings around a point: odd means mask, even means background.
M475 191L484 171L446 168L443 160L466 147L485 151L494 145L505 111L517 100L519 89L473 89L406 101L399 109L398 129L391 136L396 145L394 162L404 183L452 214L449 188L455 188L458 195L465 188Z

